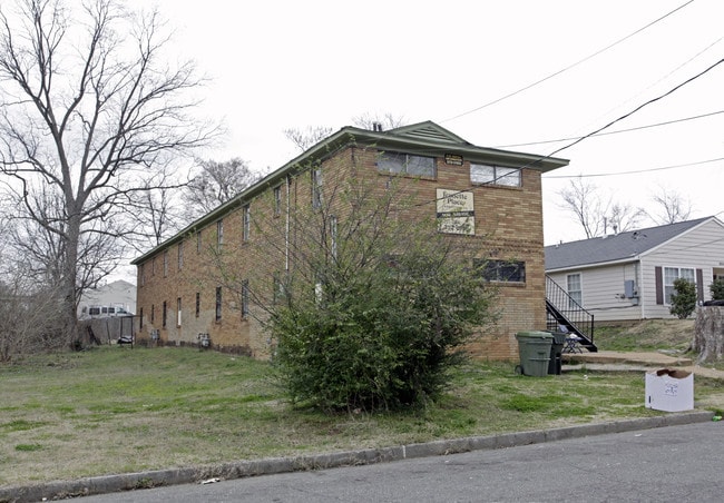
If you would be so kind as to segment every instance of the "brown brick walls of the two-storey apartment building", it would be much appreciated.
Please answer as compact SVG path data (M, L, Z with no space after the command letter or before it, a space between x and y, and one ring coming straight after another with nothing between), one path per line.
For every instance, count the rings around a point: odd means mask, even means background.
M479 249L478 256L525 263L525 284L497 284L500 318L481 329L469 348L476 357L516 359L515 333L545 327L545 273L540 172L522 170L521 187L473 186L470 164L444 164L437 158L437 179L390 177L376 169L374 148L348 147L330 156L321 165L323 196L342 205L341 197L330 194L342 179L356 177L382 194L390 180L418 205L400 218L434 218L437 189L471 191L474 198L474 236L451 236L467 239ZM276 207L275 187L281 189L281 207ZM371 196L374 197L374 196ZM165 344L195 344L199 333L208 333L214 347L268 357L272 351L268 335L262 331L264 309L274 294L274 277L285 273L293 263L286 241L301 239L286 226L287 216L306 210L312 204L312 175L301 170L280 185L270 185L248 204L253 225L247 240L243 239L244 209L242 203L232 205L223 215L223 245L217 246L217 224L193 229L180 240L183 265L178 264L178 244L138 266L138 309L143 309L143 328L138 338L149 338L150 331L160 331ZM345 209L337 208L341 214ZM198 241L200 231L200 241ZM288 234L288 235L287 235ZM262 239L261 236L264 236ZM200 243L200 245L197 245ZM221 250L221 251L219 251ZM166 268L164 255L166 254ZM291 260L291 262L290 262ZM155 262L155 265L153 264ZM141 280L140 274L144 274ZM250 312L242 315L244 282L248 284ZM216 319L216 288L222 288L222 316ZM196 314L196 294L200 306ZM180 298L180 325L177 303ZM163 326L163 303L167 306ZM151 306L154 320L150 319Z

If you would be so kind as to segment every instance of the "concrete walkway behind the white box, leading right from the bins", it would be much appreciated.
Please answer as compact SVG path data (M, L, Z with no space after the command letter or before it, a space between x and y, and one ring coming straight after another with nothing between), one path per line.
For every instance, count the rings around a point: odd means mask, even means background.
M678 368L692 372L694 375L711 377L724 381L724 371L696 365L692 358L678 355L669 355L658 352L617 352L600 351L598 353L564 353L564 365L574 367L585 364L591 369L610 371L648 371L654 368Z

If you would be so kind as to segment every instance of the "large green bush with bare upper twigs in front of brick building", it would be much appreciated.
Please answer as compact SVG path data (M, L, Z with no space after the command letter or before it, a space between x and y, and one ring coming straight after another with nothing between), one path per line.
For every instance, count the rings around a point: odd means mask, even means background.
M324 410L422 404L493 318L495 292L472 268L482 239L402 218L415 208L394 180L383 194L349 180L325 190L299 216L294 266L268 306L278 375L292 401Z

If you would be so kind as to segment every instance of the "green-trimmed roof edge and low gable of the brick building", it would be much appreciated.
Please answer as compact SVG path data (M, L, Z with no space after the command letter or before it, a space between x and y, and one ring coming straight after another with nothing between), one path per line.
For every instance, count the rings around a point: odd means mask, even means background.
M448 129L427 120L424 122L402 126L400 128L382 130L360 129L346 126L317 142L309 150L286 162L277 170L271 172L262 180L246 188L232 200L221 205L211 213L198 218L186 228L170 237L166 241L145 253L131 262L138 265L150 258L158 251L180 241L189 233L194 233L215 220L222 218L234 208L237 208L254 197L278 185L285 177L293 176L309 168L313 162L319 162L333 156L339 150L350 145L375 146L380 150L400 150L408 152L423 151L428 155L444 155L447 152L466 156L470 160L496 164L507 167L530 168L541 172L561 168L568 165L567 159L557 157L539 156L536 154L524 154L495 148L477 147L460 138Z

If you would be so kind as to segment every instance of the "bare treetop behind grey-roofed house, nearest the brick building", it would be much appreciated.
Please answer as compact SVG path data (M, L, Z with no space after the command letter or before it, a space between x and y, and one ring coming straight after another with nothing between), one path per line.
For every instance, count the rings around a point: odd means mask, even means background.
M583 177L570 180L569 186L558 195L562 200L559 206L574 214L587 239L604 236L608 231L632 230L646 215L642 208L616 203L613 197L601 196L598 187L584 181Z

